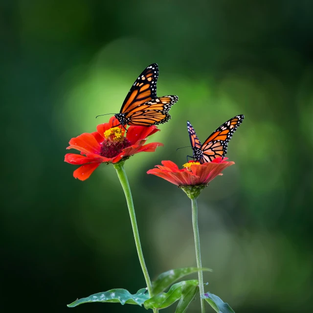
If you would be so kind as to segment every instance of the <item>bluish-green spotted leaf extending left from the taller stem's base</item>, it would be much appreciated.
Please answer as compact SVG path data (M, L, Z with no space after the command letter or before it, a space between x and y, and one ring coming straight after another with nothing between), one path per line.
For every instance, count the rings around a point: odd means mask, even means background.
M144 293L145 291L146 289L143 288L138 290L136 294L131 294L125 289L112 289L105 292L91 294L89 297L76 300L67 306L69 308L73 308L79 304L88 302L119 302L122 305L127 303L138 304L141 306L147 299L149 299L149 293Z

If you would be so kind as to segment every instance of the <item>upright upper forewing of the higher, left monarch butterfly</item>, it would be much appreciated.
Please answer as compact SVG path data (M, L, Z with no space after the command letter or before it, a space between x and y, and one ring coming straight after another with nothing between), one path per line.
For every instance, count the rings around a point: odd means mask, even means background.
M135 80L123 102L120 113L130 112L140 104L155 99L157 77L157 64L149 65Z

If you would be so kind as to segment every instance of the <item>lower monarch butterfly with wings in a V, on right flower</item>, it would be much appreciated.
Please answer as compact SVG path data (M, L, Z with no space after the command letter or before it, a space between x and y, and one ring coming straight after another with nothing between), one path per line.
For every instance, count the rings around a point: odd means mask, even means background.
M187 128L194 159L202 164L205 162L211 162L217 157L224 157L227 153L227 144L230 138L235 133L244 118L244 115L234 116L210 134L204 141L203 145L201 145L195 129L192 127L190 122L187 121Z

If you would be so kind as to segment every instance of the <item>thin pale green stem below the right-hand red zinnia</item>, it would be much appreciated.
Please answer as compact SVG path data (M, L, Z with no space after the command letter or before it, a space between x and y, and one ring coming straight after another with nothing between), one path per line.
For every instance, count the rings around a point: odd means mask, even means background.
M198 226L198 205L197 205L197 198L198 197L190 197L191 199L191 207L192 207L192 226L194 229L194 237L195 237L195 247L196 247L196 258L197 258L197 267L202 268L201 265L201 252L200 252L200 237L199 237L199 226ZM198 271L199 277L199 289L200 294L204 294L203 288L203 274L202 270ZM200 298L201 302L201 313L205 313L205 300Z

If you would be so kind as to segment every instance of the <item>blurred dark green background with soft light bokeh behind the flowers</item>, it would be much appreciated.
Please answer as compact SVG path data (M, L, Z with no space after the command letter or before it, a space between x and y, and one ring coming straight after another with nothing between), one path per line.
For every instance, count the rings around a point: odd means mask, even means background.
M149 139L165 146L125 166L151 277L196 260L189 199L147 170L185 163L187 120L203 141L245 114L228 147L236 165L199 198L206 290L236 313L312 313L312 10L305 0L1 0L4 311L144 312L66 307L145 281L113 167L82 182L63 160L69 139L119 112L156 62L157 94L179 102Z

